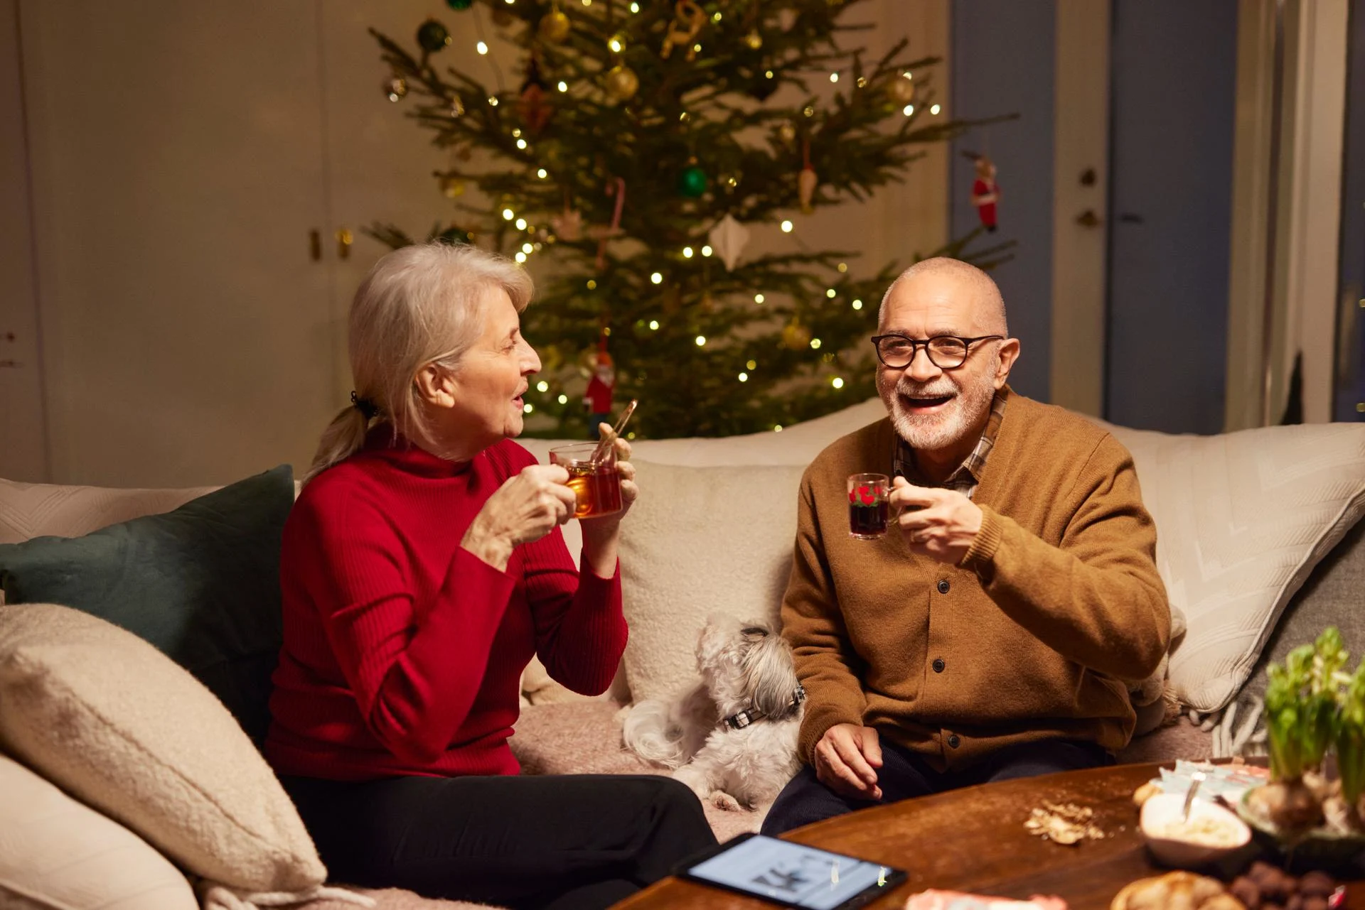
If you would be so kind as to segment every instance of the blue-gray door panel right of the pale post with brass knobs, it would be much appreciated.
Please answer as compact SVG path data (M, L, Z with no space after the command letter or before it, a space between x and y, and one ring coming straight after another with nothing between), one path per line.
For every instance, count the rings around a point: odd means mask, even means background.
M1104 416L1223 428L1235 3L1112 5Z

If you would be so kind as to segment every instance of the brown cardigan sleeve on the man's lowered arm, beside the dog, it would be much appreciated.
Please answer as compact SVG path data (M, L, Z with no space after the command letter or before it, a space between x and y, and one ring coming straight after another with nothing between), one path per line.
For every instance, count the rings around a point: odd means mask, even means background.
M809 478L807 471L801 480L792 574L782 596L782 636L792 645L796 675L805 686L797 752L807 763L826 730L839 723L861 724L867 707L854 671L857 658L834 596Z

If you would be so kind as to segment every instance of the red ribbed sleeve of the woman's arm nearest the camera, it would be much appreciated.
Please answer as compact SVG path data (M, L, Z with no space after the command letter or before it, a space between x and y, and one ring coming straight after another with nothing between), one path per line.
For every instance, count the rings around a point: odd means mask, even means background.
M404 543L374 503L347 491L300 506L292 570L366 727L400 759L435 760L479 692L512 577L456 547L440 589L419 599L400 558Z

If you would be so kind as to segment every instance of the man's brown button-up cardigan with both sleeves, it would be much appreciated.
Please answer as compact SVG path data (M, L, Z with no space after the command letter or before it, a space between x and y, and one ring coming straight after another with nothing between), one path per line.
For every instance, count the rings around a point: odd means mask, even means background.
M1114 752L1133 735L1125 681L1171 630L1156 528L1133 458L1062 408L1010 394L960 566L910 554L897 527L849 536L846 478L891 473L890 420L822 452L801 479L784 634L805 686L808 761L837 723L960 769L1003 746L1065 737Z

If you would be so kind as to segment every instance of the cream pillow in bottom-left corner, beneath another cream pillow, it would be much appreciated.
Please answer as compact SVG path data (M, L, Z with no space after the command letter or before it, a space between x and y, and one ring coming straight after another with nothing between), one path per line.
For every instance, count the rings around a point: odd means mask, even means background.
M0 756L0 906L198 910L184 876L152 846Z

